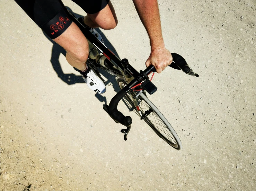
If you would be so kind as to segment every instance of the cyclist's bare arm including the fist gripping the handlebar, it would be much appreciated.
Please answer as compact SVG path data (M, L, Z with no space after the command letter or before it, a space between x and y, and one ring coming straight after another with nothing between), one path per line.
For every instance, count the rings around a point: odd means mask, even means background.
M133 0L133 3L150 40L151 53L146 61L146 66L152 64L157 73L161 73L173 58L165 48L157 0Z

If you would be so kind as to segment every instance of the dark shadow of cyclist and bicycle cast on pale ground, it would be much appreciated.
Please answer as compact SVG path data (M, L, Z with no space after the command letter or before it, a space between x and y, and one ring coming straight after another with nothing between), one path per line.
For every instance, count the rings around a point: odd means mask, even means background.
M67 7L68 10L72 11L69 7ZM76 18L83 17L80 14L73 13ZM100 31L100 29L96 29L101 37L104 40L104 43L106 47L109 48L118 58L118 53L116 52L115 48L112 46L112 44L107 40L106 36L104 35L103 32ZM44 32L43 32L44 33ZM51 63L54 71L57 73L58 77L65 83L72 85L75 83L85 83L85 81L82 79L82 77L79 75L77 76L74 73L64 73L61 68L61 64L59 62L60 55L63 54L66 56L66 51L56 42L54 42L51 38L49 38L45 33L45 37L53 43L52 47L52 56L51 56ZM105 72L103 70L100 70L100 73L107 79L106 81L106 86L113 86L114 91L118 92L120 91L120 88L118 87L118 84L116 83L116 78L112 74L109 74L108 72ZM89 90L89 89L88 89ZM100 101L100 102L105 102L107 104L106 97L102 96L101 94L96 93L95 97Z

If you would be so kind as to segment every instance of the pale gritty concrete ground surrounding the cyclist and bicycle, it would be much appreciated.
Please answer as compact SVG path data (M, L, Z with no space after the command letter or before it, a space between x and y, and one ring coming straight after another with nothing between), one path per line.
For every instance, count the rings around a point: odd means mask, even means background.
M83 10L63 2L76 14ZM132 1L112 0L119 20L107 46L145 68L149 39ZM15 1L0 0L0 190L256 190L256 2L159 0L168 50L200 77L171 68L149 96L183 149L133 118L128 140L103 111L118 91L90 91ZM113 48L115 47L115 48Z

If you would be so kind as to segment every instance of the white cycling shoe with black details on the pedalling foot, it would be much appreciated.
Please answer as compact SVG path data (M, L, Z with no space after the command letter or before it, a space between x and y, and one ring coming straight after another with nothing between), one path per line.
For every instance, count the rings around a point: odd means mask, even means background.
M81 74L83 80L85 80L85 83L87 86L95 91L96 93L105 93L106 92L106 86L105 84L99 79L98 76L90 69L89 73L85 75Z

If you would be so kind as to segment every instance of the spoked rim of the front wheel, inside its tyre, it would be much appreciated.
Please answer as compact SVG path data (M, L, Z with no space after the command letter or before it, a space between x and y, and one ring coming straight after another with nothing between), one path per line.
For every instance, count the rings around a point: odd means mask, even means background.
M119 86L121 89L123 89L126 84L122 81L118 82ZM126 94L126 99L127 102L129 102L129 109L130 111L134 111L137 115L140 114L138 112L138 110L136 109L133 101L132 101L132 96L130 93ZM142 114L145 113L145 111L148 111L151 107L147 104L147 102L145 102L141 96L138 97L139 99L137 99L137 103L139 105L140 111L142 112ZM139 102L138 102L139 101ZM126 106L127 105L126 102ZM152 109L152 108L151 108ZM174 148L178 148L178 144L177 141L175 140L174 136L171 134L170 130L168 129L168 127L165 125L165 123L159 118L159 116L155 113L155 111L153 110L149 115L147 115L147 117L144 118L144 121L162 138L164 139L168 144L170 144L172 147Z

